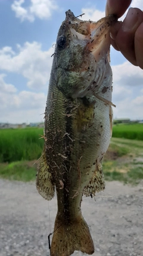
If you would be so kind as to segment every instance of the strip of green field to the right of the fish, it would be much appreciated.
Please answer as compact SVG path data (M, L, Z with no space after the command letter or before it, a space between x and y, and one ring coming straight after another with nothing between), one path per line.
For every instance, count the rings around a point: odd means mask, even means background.
M117 124L113 126L113 137L143 140L143 124Z

